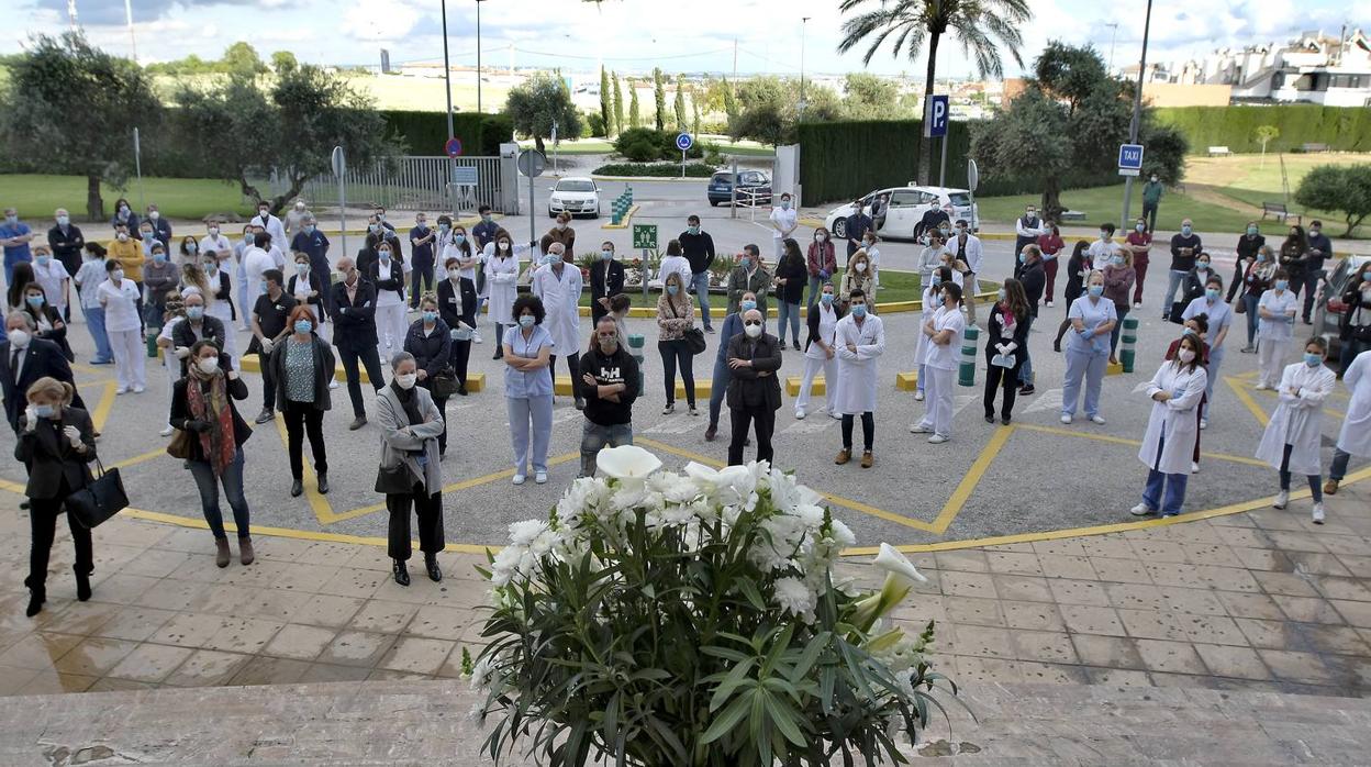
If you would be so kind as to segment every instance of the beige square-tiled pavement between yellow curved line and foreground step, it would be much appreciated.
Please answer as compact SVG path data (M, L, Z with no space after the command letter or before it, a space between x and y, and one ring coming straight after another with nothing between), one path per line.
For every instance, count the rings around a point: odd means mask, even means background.
M1371 494L1121 534L914 554L930 578L897 612L938 622L960 685L1371 690ZM96 532L95 597L74 601L70 542L49 601L23 616L29 532L0 509L0 694L457 676L480 648L481 558L398 586L383 549L256 539L219 569L203 530L115 519ZM857 560L843 569L871 578Z

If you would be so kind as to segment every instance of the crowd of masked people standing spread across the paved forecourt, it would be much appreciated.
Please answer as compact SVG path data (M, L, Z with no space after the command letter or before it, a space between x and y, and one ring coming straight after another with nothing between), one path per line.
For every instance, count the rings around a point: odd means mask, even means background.
M694 358L717 335L713 390L705 439L717 438L723 405L729 408L728 461L738 464L755 440L757 460L772 461L776 412L781 408L779 372L786 350L803 355L795 418L812 412L840 420L842 445L835 464L858 458L853 439L860 420L858 464L875 465L879 391L877 364L887 351L886 325L877 316L880 290L879 229L865 213L849 221L842 263L831 233L817 228L802 246L788 195L771 217L773 257L757 244L743 246L723 280L727 309L717 325L710 311L712 268L720 257L714 239L691 215L661 261L655 303L657 344L662 361L665 408L698 416ZM330 262L330 243L308 207L298 200L284 218L258 207L241 240L206 224L203 236L182 236L173 251L171 224L148 206L145 215L119 200L106 241L86 239L58 210L47 243L7 211L0 244L5 248L10 287L7 339L0 343L0 377L5 414L19 435L16 456L30 468L29 504L34 517L34 558L29 576L30 615L45 595L47 549L66 494L90 480L93 424L74 387L67 342L71 310L82 314L95 349L92 365L114 365L118 394L148 387L149 349L162 350L170 403L165 436L185 460L199 488L206 523L217 546L217 564L230 564L219 510L219 490L233 513L241 564L254 560L251 515L244 495L243 446L251 427L239 412L250 398L240 376L243 357L236 335L250 333L245 357L256 358L262 403L255 421L281 418L288 442L291 495L307 491L304 442L310 443L313 490L329 493L324 421L341 366L352 420L380 432L376 491L387 498L393 576L410 583L410 512L418 519L420 547L432 580L441 572L435 558L444 545L441 462L450 428L446 406L465 397L472 344L483 343L480 314L494 325L494 358L503 361L503 392L510 423L513 484L548 482L548 445L561 357L570 398L583 412L583 476L595 471L605 446L631 445L632 409L644 376L628 349L625 320L632 300L624 294L625 265L613 243L600 244L584 269L573 255L576 232L566 214L539 241L517 244L483 207L468 231L448 215L436 228L426 214L407 233L409 254L384 209L373 210L356 254ZM931 445L953 439L953 379L968 325L978 324L978 274L984 269L980 239L967 221L949 211L925 217L919 254L923 313L909 344L917 365L916 401L924 413L910 431ZM1030 332L1039 310L1054 306L1058 257L1067 252L1056 222L1030 206L1016 222L1013 276L1004 280L984 311L984 417L1010 424L1016 398L1034 394ZM32 243L32 244L30 244ZM1075 243L1065 265L1065 320L1054 351L1065 357L1060 420L1078 409L1106 424L1101 388L1106 368L1117 361L1120 329L1142 309L1150 225L1139 218L1121 241L1105 224L1093 241ZM1353 390L1342 438L1327 484L1320 484L1322 403L1338 373L1324 366L1327 347L1311 339L1304 357L1287 365L1294 325L1309 321L1312 292L1331 244L1318 221L1305 232L1291 226L1279 248L1268 247L1249 225L1239 239L1238 266L1224 296L1224 277L1211 263L1193 224L1186 220L1171 239L1163 317L1182 325L1165 362L1145 387L1152 414L1139 458L1148 465L1146 490L1135 515L1182 510L1189 476L1198 471L1200 432L1209 428L1215 380L1224 364L1226 340L1235 314L1246 314L1248 346L1256 351L1257 388L1276 390L1278 408L1259 457L1278 469L1281 495L1289 498L1290 476L1309 477L1313 519L1322 521L1322 493L1335 493L1350 456L1367 446L1371 409L1371 266L1363 266L1342 302L1344 354L1338 366ZM521 268L521 257L532 262ZM584 332L580 300L590 281L591 332ZM521 290L526 285L526 290ZM75 296L71 295L73 288ZM236 290L237 288L237 290ZM716 294L717 295L717 294ZM771 305L777 322L768 332ZM801 339L801 318L805 338ZM788 344L787 344L787 336ZM151 340L149 340L151 339ZM1063 349L1065 339L1065 349ZM148 344L152 344L151 347ZM583 347L584 344L584 347ZM388 368L385 370L384 368ZM824 406L817 386L823 376ZM677 379L679 376L679 379ZM362 384L372 388L370 401ZM1083 392L1083 394L1082 394ZM997 408L998 403L998 408ZM169 449L170 450L170 449ZM52 467L52 471L38 471ZM34 479L37 477L37 479ZM56 479L53 479L56 477ZM44 519L38 519L43 516ZM49 519L51 517L51 519ZM89 571L89 531L77 539L77 575ZM85 553L82 554L82 546ZM38 549L43 549L41 557ZM84 591L89 593L85 582Z

